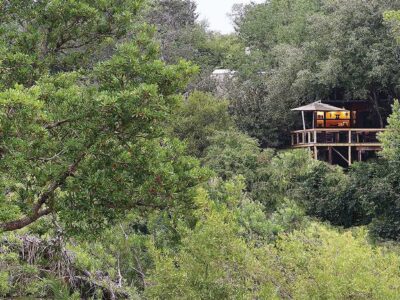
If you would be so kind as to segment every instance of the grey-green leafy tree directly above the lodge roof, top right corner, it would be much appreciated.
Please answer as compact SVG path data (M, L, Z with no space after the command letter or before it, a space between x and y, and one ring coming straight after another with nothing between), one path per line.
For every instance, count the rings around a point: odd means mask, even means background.
M397 47L383 19L385 9L398 5L380 0L325 1L324 14L311 18L314 34L304 47L307 56L317 56L307 68L315 74L315 89L322 91L317 96L368 100L380 127L399 92Z

